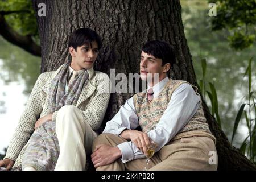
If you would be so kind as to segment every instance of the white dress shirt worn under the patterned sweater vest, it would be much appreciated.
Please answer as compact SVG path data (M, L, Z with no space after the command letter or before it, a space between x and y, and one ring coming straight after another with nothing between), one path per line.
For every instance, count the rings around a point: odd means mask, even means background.
M169 79L166 77L152 87L154 98L158 97L168 81ZM150 89L149 86L148 89ZM187 124L193 115L195 115L199 105L200 95L187 83L181 84L174 93L172 93L167 109L164 111L159 122L155 125L154 129L147 133L151 140L158 143L156 152L175 137L175 135ZM119 135L125 129L134 130L138 126L139 121L133 97L131 97L121 106L114 118L106 123L103 133ZM145 157L143 152L131 141L123 142L117 145L117 147L121 150L121 160L123 163Z

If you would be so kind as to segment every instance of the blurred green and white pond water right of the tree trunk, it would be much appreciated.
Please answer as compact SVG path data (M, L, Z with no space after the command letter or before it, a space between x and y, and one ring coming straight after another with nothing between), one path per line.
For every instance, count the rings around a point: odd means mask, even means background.
M232 138L234 117L243 104L242 96L247 94L247 84L243 74L247 68L247 59L255 55L256 44L243 51L236 51L229 46L228 31L211 31L210 22L214 17L208 15L207 1L181 1L184 31L193 59L193 68L197 82L203 75L201 60L207 57L207 74L205 86L210 91L209 82L214 84L218 96L218 113L221 118L221 127L229 140ZM218 13L218 10L217 10ZM203 84L203 83L202 83ZM200 83L200 88L202 88ZM204 91L204 90L203 90ZM202 92L205 98L206 92ZM209 109L212 104L206 100ZM247 137L246 121L242 117L237 129L233 145L240 147Z

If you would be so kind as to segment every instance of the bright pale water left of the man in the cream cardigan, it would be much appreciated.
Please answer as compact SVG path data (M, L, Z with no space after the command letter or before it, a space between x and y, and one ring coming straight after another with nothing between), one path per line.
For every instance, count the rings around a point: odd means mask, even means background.
M30 55L0 36L0 153L10 143L39 73L40 57Z

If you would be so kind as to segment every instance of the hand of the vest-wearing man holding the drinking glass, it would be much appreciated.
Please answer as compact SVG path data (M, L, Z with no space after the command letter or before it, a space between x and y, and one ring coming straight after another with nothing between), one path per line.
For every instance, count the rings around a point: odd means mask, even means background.
M147 155L147 148L150 146L150 138L147 133L138 130L124 130L121 136L130 139L139 150Z

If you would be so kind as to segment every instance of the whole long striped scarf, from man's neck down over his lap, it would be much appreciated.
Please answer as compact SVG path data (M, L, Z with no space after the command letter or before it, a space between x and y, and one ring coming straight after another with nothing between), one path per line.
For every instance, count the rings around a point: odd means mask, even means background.
M88 82L89 74L87 70L82 71L69 83L69 88L64 93L66 81L68 78L70 61L65 64L60 72L53 78L48 91L49 112L59 110L64 105L76 105L81 94L82 86ZM38 170L54 170L57 159L59 158L60 147L55 133L55 122L45 122L42 127L36 130L24 152L22 168L27 166Z

